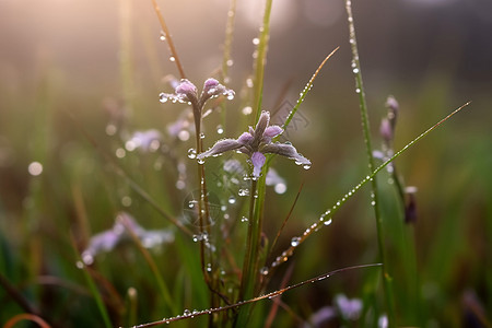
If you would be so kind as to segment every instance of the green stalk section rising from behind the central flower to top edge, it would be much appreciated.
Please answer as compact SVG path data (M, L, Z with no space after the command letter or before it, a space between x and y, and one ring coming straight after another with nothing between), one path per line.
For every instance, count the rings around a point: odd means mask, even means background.
M256 110L255 122L258 121L261 113L261 99L263 93L265 66L267 63L268 40L270 38L270 13L273 0L267 0L265 3L263 24L260 27L258 48L256 50L255 61L255 81L253 94L253 109Z

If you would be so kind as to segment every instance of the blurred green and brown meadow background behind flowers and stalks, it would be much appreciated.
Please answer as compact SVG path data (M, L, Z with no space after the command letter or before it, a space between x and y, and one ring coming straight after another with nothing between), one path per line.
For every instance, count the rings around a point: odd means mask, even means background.
M227 1L161 1L160 5L187 77L201 85L216 75ZM483 313L490 323L492 313L492 4L370 0L353 1L353 10L375 147L380 143L378 125L389 94L400 103L395 150L472 101L396 162L406 184L418 187L417 223L402 223L395 190L385 184L386 173L379 183L399 324L482 327L467 326L471 325L467 320L470 313ZM261 12L261 1L237 3L229 83L237 96L227 104L224 134L215 133L219 115L204 121L206 147L218 138L236 137L253 124L251 117L241 114L246 105L242 91L251 73L251 40ZM121 210L145 229L169 226L115 174L82 132L97 148L115 154L125 145L125 133L152 128L165 134L167 125L179 117L183 106L159 103L160 92L172 91L164 77L178 75L166 44L159 39L160 30L150 1L0 1L0 270L60 327L99 323L75 267L75 248L82 250L89 236L110 229ZM277 253L367 175L367 165L343 2L274 1L265 109L295 104L317 66L337 46L339 51L300 109L302 119L289 133L313 167L300 172L290 161L274 163L286 178L288 191L268 191L265 231L270 239L304 183ZM110 124L121 125L118 133L107 133ZM194 147L192 138L166 137L163 143L167 154L185 161ZM176 190L178 169L169 156L127 152L117 161L163 208L179 216L185 197L194 189L195 171L190 168L189 184ZM40 174L36 166L30 172L34 162L42 164ZM155 163L161 163L159 169ZM209 173L215 164L211 161ZM181 266L180 259L184 254L191 257L195 249L187 236L177 238L155 256L165 279L176 283L175 295L194 277L186 272L192 260ZM121 297L114 301L127 304L127 290L136 286L145 298L140 300L133 324L162 318L162 301L153 293L153 282L147 281L150 270L141 255L131 249L115 254L103 255L97 267ZM376 260L374 218L368 189L363 189L332 225L298 248L291 260L295 263L291 282ZM272 281L272 289L280 279L281 274ZM332 304L337 293L371 302L366 296L371 290L380 290L374 281L371 272L347 272L316 288L290 292L283 300L307 318ZM186 290L181 298L176 296L178 308L202 306L196 293ZM199 295L207 300L203 293ZM119 305L109 307L115 309L112 318L128 315L118 313ZM0 289L0 323L22 312ZM115 319L115 325L130 321ZM284 313L280 323L296 326Z

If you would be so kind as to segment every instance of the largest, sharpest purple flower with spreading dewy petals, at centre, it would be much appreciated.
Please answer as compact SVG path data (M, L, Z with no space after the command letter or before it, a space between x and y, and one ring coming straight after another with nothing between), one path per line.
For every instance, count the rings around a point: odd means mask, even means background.
M261 168L265 165L265 154L279 154L292 160L300 165L311 165L311 161L297 153L296 149L290 143L272 142L272 139L283 132L279 126L269 126L270 113L262 112L256 128L249 127L248 132L244 132L237 139L223 139L199 154L197 157L203 160L209 156L216 156L224 152L237 150L249 156L253 164L253 176L258 178Z

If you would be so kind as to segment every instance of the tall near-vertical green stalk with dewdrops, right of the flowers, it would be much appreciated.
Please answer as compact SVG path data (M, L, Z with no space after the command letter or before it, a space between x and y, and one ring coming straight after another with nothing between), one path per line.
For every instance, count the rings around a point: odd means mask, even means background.
M361 72L361 63L359 61L359 49L358 42L355 37L355 26L353 23L353 14L352 14L352 1L345 0L345 9L347 15L349 20L349 40L352 49L352 71L355 75L355 92L359 95L359 104L361 109L361 119L362 119L362 131L364 134L365 150L367 155L368 168L370 172L374 171L374 157L373 157L373 147L371 142L371 128L370 120L367 114L367 104L365 101L364 85L362 82L362 72ZM386 311L388 316L388 327L396 327L396 318L395 318L395 305L394 297L391 292L391 277L388 272L387 260L385 255L385 238L383 235L383 216L380 214L379 201L378 201L378 191L377 191L377 180L376 176L371 180L372 188L372 201L374 208L374 214L376 218L376 232L377 232L377 245L379 250L379 259L383 263L382 274L383 274L383 289L385 292L385 303Z

